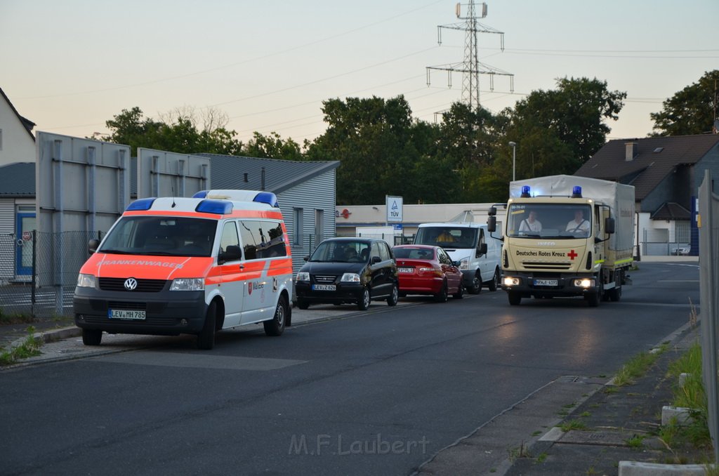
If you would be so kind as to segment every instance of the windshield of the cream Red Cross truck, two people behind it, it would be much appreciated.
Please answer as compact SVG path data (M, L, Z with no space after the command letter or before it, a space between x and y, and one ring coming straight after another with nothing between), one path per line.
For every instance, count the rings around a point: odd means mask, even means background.
M511 203L507 236L574 239L592 234L592 207L586 203Z

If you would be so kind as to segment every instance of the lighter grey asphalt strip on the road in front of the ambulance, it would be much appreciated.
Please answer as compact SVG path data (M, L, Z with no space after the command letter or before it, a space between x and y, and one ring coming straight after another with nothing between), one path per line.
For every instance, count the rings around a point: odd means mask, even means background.
M229 357L227 355L203 355L198 352L123 352L93 357L96 362L114 362L132 365L157 365L158 367L194 367L219 370L277 370L300 365L307 360L259 359L256 357Z

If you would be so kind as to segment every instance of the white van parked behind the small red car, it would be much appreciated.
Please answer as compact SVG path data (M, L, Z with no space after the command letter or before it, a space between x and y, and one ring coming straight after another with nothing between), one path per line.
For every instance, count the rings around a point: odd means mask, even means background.
M418 226L414 244L444 248L459 262L467 292L478 294L482 286L490 291L499 288L501 244L489 236L486 224L423 223Z

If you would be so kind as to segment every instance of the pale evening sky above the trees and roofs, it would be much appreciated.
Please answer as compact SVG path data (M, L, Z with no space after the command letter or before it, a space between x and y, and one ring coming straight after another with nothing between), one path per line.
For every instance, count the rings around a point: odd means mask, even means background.
M487 0L479 60L493 113L558 78L627 93L608 139L646 137L662 101L719 68L719 0ZM455 0L0 0L0 88L35 131L92 137L134 106L229 118L247 142L300 145L326 129L322 101L405 97L415 119L462 100L465 19ZM467 12L468 2L460 12ZM475 3L480 13L480 3ZM502 37L504 49L502 46ZM493 86L493 88L490 88ZM707 126L710 129L710 126Z

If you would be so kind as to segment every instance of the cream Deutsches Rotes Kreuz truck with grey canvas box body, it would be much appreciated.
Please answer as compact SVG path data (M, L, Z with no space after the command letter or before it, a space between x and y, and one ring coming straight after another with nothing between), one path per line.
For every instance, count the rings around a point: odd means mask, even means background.
M633 186L574 175L511 182L501 238L509 303L564 296L583 296L590 306L618 301L631 284L634 220ZM495 216L488 227L495 231Z

